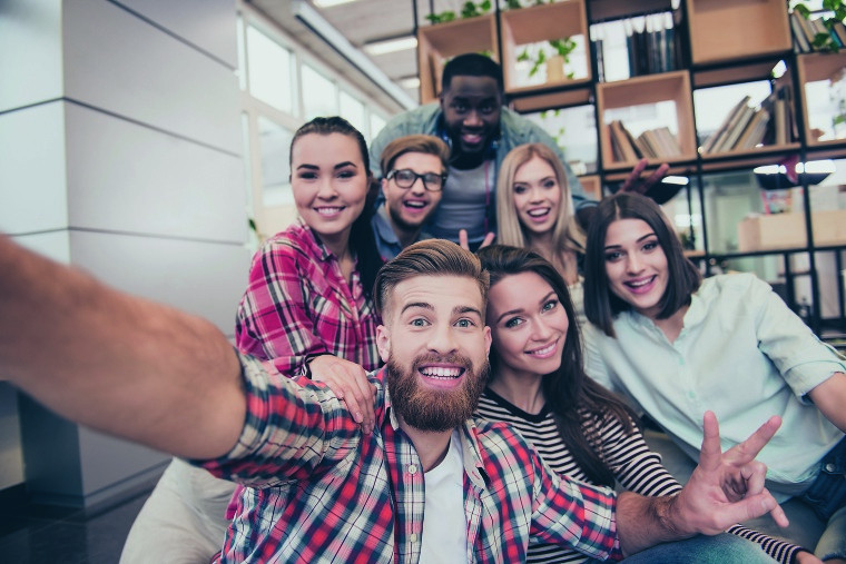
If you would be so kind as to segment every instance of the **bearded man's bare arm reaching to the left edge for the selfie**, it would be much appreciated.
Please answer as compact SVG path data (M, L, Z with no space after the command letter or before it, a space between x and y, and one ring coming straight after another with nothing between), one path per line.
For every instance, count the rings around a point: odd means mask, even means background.
M135 298L0 235L0 374L58 414L190 458L244 425L240 366L208 321Z

